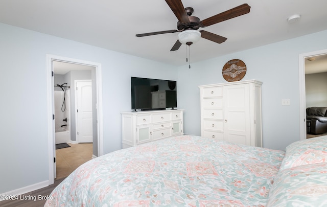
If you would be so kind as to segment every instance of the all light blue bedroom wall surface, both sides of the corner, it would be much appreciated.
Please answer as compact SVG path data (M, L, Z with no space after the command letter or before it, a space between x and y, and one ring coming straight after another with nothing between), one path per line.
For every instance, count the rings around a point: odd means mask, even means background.
M264 82L264 146L284 149L299 137L298 55L326 49L326 36L323 31L277 42L192 63L189 69L0 24L0 193L49 179L46 54L102 64L105 153L121 149L120 111L131 107L131 76L177 80L184 132L200 135L198 85L224 82L221 70L230 59L246 63L244 79ZM281 105L284 98L291 106Z

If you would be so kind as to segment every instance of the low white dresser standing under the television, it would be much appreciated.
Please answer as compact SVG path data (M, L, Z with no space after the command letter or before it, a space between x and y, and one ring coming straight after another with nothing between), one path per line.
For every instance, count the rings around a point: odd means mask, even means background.
M183 134L183 110L121 112L123 148Z

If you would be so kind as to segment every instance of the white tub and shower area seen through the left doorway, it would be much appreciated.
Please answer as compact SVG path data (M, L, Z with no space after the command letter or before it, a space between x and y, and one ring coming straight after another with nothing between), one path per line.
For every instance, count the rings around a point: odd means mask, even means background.
M55 85L55 143L71 143L71 93L67 83Z

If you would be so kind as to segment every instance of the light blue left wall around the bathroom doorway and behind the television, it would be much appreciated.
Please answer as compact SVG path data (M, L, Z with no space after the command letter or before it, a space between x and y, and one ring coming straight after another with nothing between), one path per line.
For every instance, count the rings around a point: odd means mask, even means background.
M105 153L122 146L130 77L177 80L172 65L0 24L0 193L49 180L46 54L102 63Z

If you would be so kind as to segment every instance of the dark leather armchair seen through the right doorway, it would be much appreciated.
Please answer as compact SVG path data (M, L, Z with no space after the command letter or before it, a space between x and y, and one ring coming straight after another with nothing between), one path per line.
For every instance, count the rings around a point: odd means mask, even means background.
M307 108L307 133L322 134L327 132L327 107Z

